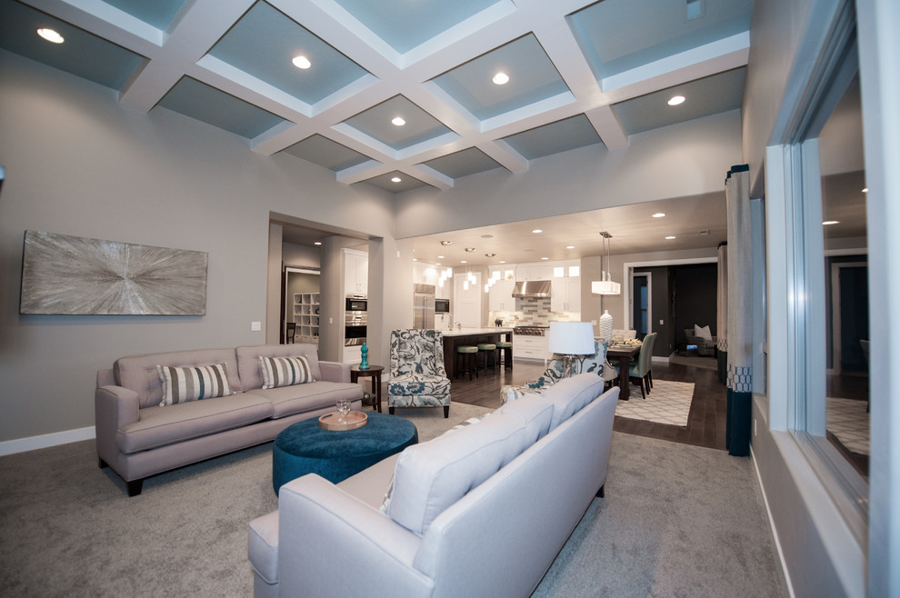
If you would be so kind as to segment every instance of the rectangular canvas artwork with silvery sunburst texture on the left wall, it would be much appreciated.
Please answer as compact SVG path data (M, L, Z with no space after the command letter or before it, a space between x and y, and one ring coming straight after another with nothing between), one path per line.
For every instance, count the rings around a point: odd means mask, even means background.
M25 231L20 314L204 315L205 252Z

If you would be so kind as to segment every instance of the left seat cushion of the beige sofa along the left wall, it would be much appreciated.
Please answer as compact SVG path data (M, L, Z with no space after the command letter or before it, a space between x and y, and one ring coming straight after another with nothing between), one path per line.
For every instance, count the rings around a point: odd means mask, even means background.
M147 407L138 421L116 431L115 442L123 453L136 453L254 424L271 414L272 404L252 394Z

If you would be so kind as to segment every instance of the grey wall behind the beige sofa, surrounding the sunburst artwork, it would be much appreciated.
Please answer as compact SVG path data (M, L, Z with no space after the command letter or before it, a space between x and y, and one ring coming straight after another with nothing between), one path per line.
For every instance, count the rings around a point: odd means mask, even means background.
M162 108L126 109L109 89L5 51L0 106L0 442L93 434L96 371L121 355L264 343L250 323L272 324L271 211L393 234L390 194ZM207 252L206 314L19 315L26 229Z

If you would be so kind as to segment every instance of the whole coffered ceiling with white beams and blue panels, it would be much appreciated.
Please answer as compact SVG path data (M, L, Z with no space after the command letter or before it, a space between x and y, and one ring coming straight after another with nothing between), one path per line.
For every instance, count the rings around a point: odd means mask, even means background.
M750 15L751 0L0 0L0 46L401 192L740 107Z

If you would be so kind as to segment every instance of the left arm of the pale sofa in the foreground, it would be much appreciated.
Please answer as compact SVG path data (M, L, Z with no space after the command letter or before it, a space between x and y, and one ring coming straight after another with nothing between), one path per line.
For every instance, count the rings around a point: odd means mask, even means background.
M305 475L281 487L278 506L282 595L433 593L412 565L422 539L335 484Z

